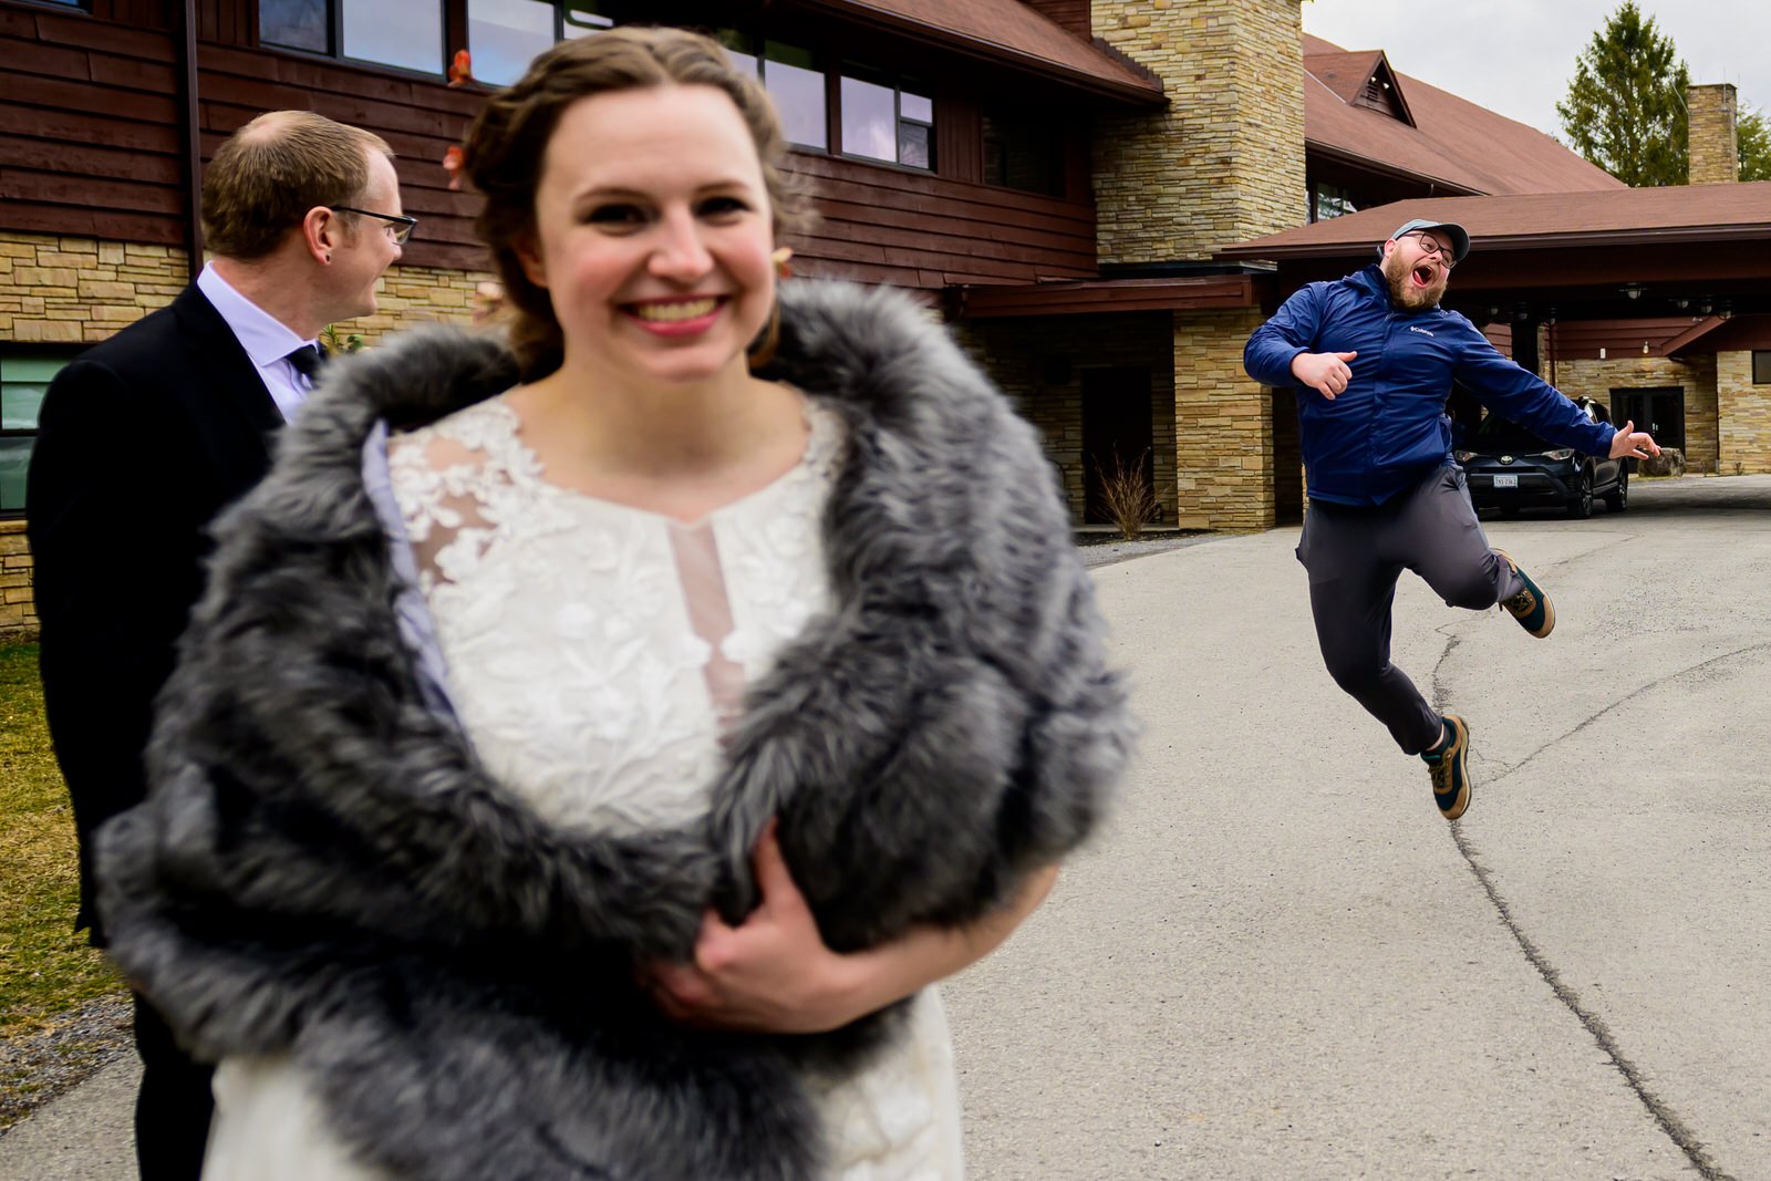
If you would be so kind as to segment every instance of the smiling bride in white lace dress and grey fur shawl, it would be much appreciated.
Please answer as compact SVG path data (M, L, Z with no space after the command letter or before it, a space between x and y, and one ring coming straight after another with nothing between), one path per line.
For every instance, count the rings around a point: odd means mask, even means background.
M508 347L340 365L218 524L101 841L211 1181L960 1176L933 984L1130 722L1032 430L779 282L781 151L703 37L542 55L464 156Z

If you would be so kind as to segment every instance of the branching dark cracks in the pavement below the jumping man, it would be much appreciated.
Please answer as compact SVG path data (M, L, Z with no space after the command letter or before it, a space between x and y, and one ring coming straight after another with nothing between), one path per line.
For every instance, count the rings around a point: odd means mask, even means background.
M1456 652L1458 646L1463 643L1463 637L1458 634L1458 630L1454 630L1458 627L1459 627L1458 623L1447 623L1445 627L1436 629L1445 637L1445 648L1443 652L1440 652L1440 659L1433 664L1433 698L1436 701L1445 699L1443 683L1440 676L1442 669L1450 660L1452 652ZM1665 676L1647 682L1631 691L1629 694L1619 698L1617 701L1612 701L1603 710L1583 719L1566 733L1557 735L1555 738L1544 742L1535 751L1521 758L1518 763L1505 765L1500 763L1498 760L1484 760L1484 765L1495 763L1496 767L1505 767L1505 770L1502 770L1500 776L1489 779L1489 784L1496 784L1507 779L1514 772L1530 765L1530 761L1535 760L1544 751L1555 747L1566 738L1571 738L1573 735L1578 735L1580 731L1587 729L1612 710L1619 708L1628 701L1633 701L1635 698L1640 698L1642 694L1652 689L1659 689L1663 685L1677 682L1679 678L1691 676L1705 669L1713 669L1720 664L1727 664L1743 655L1762 653L1767 650L1771 650L1771 643L1748 645L1744 648L1737 648L1734 652L1727 652L1723 655L1700 660L1697 664L1691 664L1688 668L1672 671ZM1463 820L1454 820L1450 823L1450 839L1456 843L1458 853L1463 857L1465 864L1470 866L1470 873L1475 875L1475 880L1482 887L1482 892L1488 896L1489 905L1493 905L1495 912L1500 915L1502 926L1507 928L1507 931L1512 935L1512 940L1520 946L1520 951L1525 953L1527 963L1532 965L1532 969L1544 981L1544 984L1550 986L1551 995L1555 995L1555 999L1560 1000L1562 1006L1574 1015L1574 1020L1580 1022L1582 1029L1585 1029L1587 1034L1597 1043L1599 1050L1605 1052L1612 1066L1615 1066L1617 1073L1624 1077L1624 1082L1629 1085L1636 1100L1654 1119L1659 1130L1667 1135L1667 1139L1672 1140L1681 1153L1684 1153L1684 1158L1691 1162L1691 1167L1697 1169L1698 1176L1702 1176L1704 1181L1736 1181L1732 1174L1725 1172L1714 1160L1711 1160L1709 1151L1704 1147L1704 1142L1697 1139L1697 1133L1693 1133L1682 1119L1679 1119L1679 1115L1672 1110L1672 1107L1658 1094L1654 1094L1654 1091L1649 1089L1647 1078L1643 1077L1642 1069L1624 1054L1622 1043L1619 1043L1619 1039L1612 1034L1610 1027L1605 1023L1605 1018L1601 1018L1597 1013L1590 1011L1585 1004L1582 1004L1580 993L1574 992L1562 979L1562 974L1557 970L1555 963L1550 961L1550 956L1544 954L1541 947L1537 947L1532 937L1527 935L1525 930L1520 926L1520 922L1512 917L1512 908L1507 905L1507 899L1502 898L1500 887L1495 884L1493 875L1488 871L1488 868L1477 855L1475 845L1470 841L1468 836L1465 836Z

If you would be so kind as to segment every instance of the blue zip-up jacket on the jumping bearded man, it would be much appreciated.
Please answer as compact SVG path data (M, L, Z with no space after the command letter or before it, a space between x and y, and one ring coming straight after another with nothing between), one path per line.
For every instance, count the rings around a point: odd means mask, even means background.
M1358 352L1348 388L1326 398L1302 384L1291 375L1300 352ZM1608 455L1617 434L1504 358L1458 312L1396 308L1378 264L1286 299L1254 329L1241 361L1263 386L1296 391L1309 496L1335 505L1381 505L1452 462L1452 381L1504 418L1585 455Z

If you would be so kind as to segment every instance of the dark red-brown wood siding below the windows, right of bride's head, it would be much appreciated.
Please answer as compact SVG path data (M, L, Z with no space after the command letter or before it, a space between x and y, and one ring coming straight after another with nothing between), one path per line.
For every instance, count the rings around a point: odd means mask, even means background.
M815 198L804 274L940 289L1094 274L1094 207L861 161L793 152Z

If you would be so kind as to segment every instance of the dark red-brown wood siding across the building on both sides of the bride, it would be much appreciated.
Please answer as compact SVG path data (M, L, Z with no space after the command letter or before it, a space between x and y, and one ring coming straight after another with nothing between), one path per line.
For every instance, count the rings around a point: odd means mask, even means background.
M97 0L147 25L161 0ZM315 110L381 135L420 218L406 262L478 269L478 198L448 189L443 154L478 110L476 90L400 71L250 46L250 4L198 0L202 159L266 110ZM0 0L0 228L182 244L182 106L170 23L128 27ZM1094 274L1087 138L1064 131L1070 197L986 186L976 104L940 89L942 175L793 152L820 216L795 241L800 273L935 290ZM1077 161L1082 161L1077 166Z

